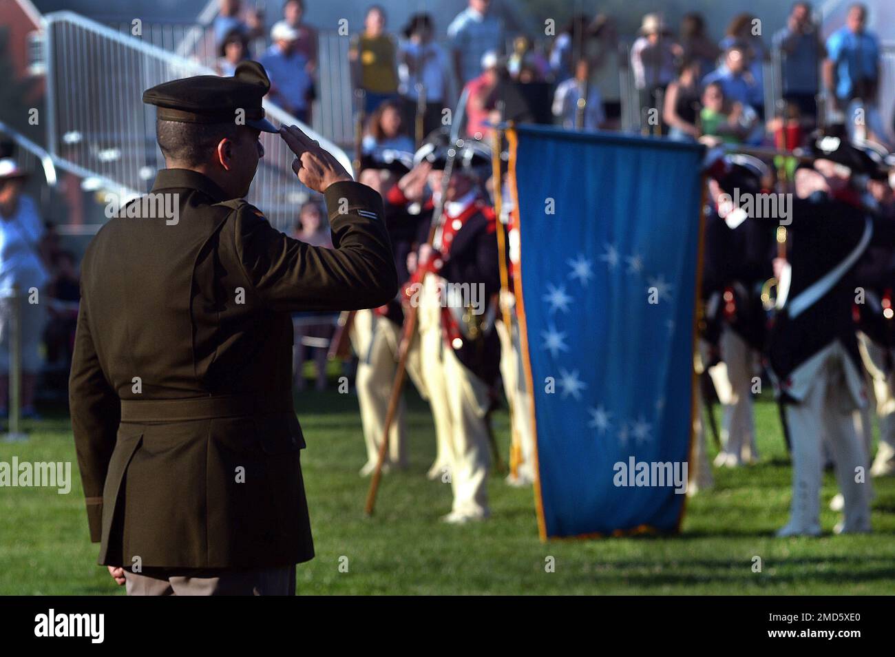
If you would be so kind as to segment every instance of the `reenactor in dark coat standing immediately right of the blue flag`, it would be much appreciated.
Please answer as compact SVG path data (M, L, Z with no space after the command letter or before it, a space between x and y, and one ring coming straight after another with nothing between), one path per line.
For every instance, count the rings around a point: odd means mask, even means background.
M710 363L709 373L723 407L715 465L734 467L758 460L752 392L764 342L761 288L771 277L773 228L770 219L750 216L746 203L737 204L763 193L767 167L748 155L725 159L724 175L709 181L714 211L705 233L704 292L706 319L714 325L713 360L720 360Z

